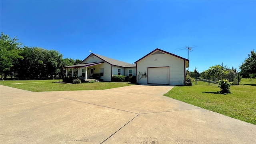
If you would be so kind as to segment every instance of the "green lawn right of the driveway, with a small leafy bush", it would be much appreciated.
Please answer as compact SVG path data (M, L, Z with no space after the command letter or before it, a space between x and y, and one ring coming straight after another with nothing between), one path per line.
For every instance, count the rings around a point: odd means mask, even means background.
M200 83L176 86L164 96L256 124L256 82L251 84L249 80L242 79L240 85L231 86L231 94L219 94L218 84L208 86L208 83Z

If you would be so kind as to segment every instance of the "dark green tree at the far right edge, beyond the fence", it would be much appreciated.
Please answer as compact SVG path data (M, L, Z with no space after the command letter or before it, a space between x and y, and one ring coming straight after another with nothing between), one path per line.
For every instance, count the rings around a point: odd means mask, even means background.
M249 78L250 75L255 78L256 77L256 52L252 50L250 54L248 54L248 58L244 60L242 65L239 66L243 78Z

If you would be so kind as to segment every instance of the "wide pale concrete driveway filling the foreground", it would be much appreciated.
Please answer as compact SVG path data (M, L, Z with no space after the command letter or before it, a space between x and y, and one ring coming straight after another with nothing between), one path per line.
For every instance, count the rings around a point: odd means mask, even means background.
M256 125L162 96L172 88L29 92L0 85L0 143L256 144Z

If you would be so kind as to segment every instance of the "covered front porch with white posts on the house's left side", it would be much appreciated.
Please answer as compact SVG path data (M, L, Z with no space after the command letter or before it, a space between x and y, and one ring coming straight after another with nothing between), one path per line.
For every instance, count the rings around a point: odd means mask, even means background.
M72 77L74 77L74 68L77 68L77 77L81 80L100 80L100 67L99 65L104 62L92 62L84 64L76 64L72 66L64 66L66 69L66 77L68 77L68 69L72 68ZM98 65L98 66L96 66Z

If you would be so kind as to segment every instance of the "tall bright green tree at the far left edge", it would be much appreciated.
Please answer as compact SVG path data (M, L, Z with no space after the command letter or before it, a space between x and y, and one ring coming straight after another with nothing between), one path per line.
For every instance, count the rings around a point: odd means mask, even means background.
M18 59L22 59L20 56L21 50L20 46L22 43L17 42L16 37L10 38L8 35L5 35L1 32L0 36L0 70L1 74L4 73L4 78L6 79L7 75L12 75L11 68L14 66L14 62Z

